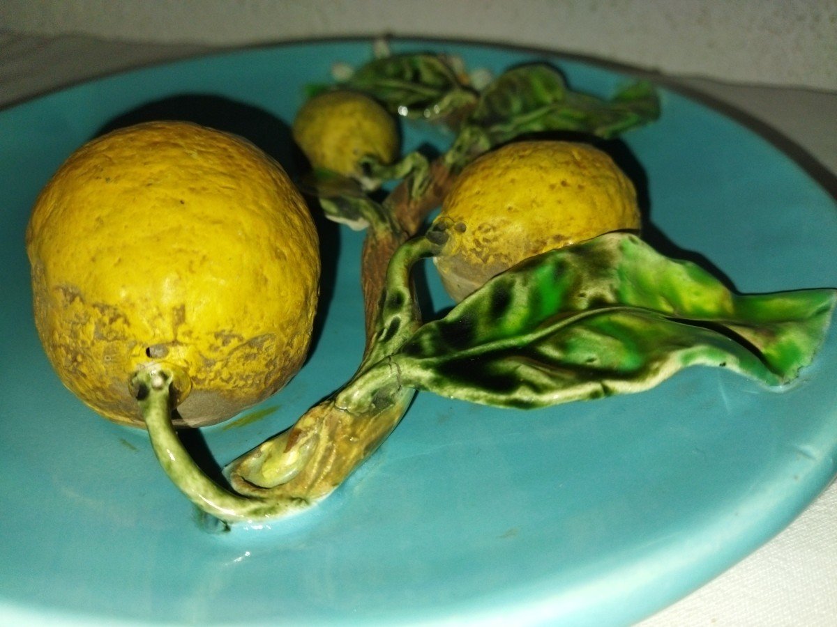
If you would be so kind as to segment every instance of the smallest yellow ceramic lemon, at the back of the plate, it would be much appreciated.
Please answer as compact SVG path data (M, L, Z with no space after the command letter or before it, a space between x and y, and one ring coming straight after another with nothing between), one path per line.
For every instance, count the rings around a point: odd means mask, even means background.
M398 157L398 125L375 99L338 89L303 104L293 125L294 140L311 161L343 176L362 176L363 157L390 164Z

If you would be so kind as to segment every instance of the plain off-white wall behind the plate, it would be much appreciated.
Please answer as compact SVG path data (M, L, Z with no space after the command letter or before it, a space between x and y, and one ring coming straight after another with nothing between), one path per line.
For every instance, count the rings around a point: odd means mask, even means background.
M837 90L834 0L2 0L0 30L217 46L479 39L665 74Z

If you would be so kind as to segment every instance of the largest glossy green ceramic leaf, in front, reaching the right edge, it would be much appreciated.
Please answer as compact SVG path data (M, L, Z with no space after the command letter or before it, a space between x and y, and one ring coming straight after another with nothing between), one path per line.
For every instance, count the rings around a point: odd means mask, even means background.
M492 279L387 367L402 385L511 407L646 390L695 364L782 385L813 359L835 298L737 295L693 263L610 233Z

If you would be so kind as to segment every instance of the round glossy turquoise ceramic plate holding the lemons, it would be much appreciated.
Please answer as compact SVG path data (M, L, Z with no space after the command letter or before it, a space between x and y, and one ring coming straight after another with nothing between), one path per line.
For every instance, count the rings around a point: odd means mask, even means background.
M478 45L397 48L444 50L496 71L544 58ZM101 420L50 370L30 312L29 207L71 150L143 116L233 130L295 171L288 125L302 86L327 80L336 60L369 54L355 42L247 50L0 112L0 622L628 623L766 542L834 475L832 331L782 393L695 368L644 394L529 413L422 394L321 507L270 528L201 531L145 433ZM606 96L625 81L552 61L578 90ZM663 107L622 152L664 252L701 258L743 292L837 286L833 199L737 122L669 91ZM445 140L424 132L410 127L408 144ZM190 437L194 450L229 461L352 374L362 350L361 239L328 226L323 239L326 302L310 361L258 412ZM434 307L444 307L430 270Z

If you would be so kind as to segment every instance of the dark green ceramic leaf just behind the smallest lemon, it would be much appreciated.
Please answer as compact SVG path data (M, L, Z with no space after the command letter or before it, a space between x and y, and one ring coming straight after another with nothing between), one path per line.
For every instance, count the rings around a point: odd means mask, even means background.
M474 99L454 70L435 54L400 54L374 59L347 80L347 87L372 95L394 114L435 119L450 115L459 100Z

